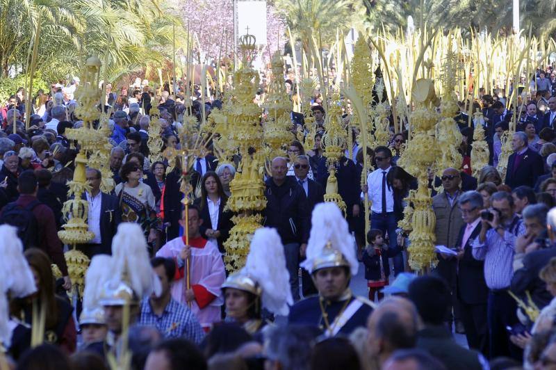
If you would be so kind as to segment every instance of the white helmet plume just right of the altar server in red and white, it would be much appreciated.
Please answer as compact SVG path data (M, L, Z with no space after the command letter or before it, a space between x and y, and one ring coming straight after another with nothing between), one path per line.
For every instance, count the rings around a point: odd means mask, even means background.
M243 271L256 280L263 291L263 307L287 316L293 305L290 274L286 268L284 246L276 229L261 227L255 231Z

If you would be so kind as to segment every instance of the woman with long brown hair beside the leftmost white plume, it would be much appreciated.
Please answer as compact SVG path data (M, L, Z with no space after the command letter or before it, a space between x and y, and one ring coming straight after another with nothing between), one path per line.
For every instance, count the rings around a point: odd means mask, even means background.
M50 258L38 248L29 248L24 255L33 271L37 292L13 300L12 314L29 325L37 325L32 322L33 305L36 305L38 312L44 309L44 341L60 346L67 354L73 353L77 341L73 308L67 298L56 294Z

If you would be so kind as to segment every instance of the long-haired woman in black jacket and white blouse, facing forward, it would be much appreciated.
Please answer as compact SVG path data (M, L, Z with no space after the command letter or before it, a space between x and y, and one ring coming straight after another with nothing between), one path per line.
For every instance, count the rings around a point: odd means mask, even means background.
M195 200L195 204L201 209L201 235L217 243L220 252L224 252L224 241L227 241L231 229L231 212L224 211L227 201L220 177L214 171L206 172L201 179L201 197Z

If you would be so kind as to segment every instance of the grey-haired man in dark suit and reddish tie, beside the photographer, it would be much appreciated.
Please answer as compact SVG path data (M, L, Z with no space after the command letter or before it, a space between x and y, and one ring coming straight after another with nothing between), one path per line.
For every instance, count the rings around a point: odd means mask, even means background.
M459 230L456 246L459 248L457 259L457 297L459 316L464 324L469 348L488 355L486 325L486 300L489 288L484 282L484 262L473 258L473 240L481 231L482 196L477 191L467 191L459 197L459 209L464 225Z

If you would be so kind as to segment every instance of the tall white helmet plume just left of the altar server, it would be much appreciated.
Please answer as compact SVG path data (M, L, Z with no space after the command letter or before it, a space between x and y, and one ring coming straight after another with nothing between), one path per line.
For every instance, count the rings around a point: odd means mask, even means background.
M112 241L113 273L112 277L122 279L125 275L131 283L131 289L141 299L155 293L160 296L161 282L154 274L147 241L141 227L136 223L121 223Z

